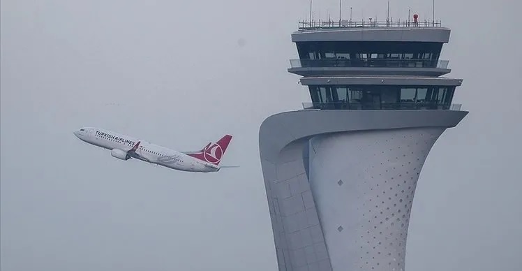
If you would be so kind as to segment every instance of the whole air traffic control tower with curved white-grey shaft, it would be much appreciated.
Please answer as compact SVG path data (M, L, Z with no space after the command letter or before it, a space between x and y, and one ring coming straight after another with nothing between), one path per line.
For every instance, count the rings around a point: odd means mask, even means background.
M264 120L260 159L279 270L404 270L419 173L468 114L440 23L299 22L311 103Z

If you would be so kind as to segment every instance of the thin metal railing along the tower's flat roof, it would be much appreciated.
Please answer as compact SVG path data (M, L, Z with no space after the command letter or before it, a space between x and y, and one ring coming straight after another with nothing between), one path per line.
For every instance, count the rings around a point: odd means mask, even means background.
M442 22L432 21L299 21L299 30L354 28L354 27L442 27Z

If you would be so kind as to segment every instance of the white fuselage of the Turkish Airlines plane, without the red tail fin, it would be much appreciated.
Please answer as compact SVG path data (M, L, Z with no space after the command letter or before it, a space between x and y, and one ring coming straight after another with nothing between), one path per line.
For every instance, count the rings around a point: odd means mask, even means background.
M84 127L75 131L74 134L80 140L91 145L110 149L113 157L124 161L134 158L174 170L188 172L209 173L220 170L218 165L202 161L184 152L177 152L174 149L161 147L105 129ZM135 147L135 151L131 152L133 147Z

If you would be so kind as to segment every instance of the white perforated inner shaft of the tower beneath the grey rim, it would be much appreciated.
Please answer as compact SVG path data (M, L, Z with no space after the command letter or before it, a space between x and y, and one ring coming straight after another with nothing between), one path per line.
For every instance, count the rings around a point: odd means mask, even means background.
M311 139L309 182L332 270L404 269L419 173L444 131L353 131Z

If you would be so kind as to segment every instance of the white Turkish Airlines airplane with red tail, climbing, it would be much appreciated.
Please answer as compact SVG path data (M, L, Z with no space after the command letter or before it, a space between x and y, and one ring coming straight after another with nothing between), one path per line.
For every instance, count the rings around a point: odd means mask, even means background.
M221 168L238 167L219 166L232 140L230 135L223 136L214 144L209 142L205 147L195 152L179 152L96 127L82 127L73 133L84 142L110 149L110 154L114 158L124 161L137 159L174 170L198 173L218 172Z

